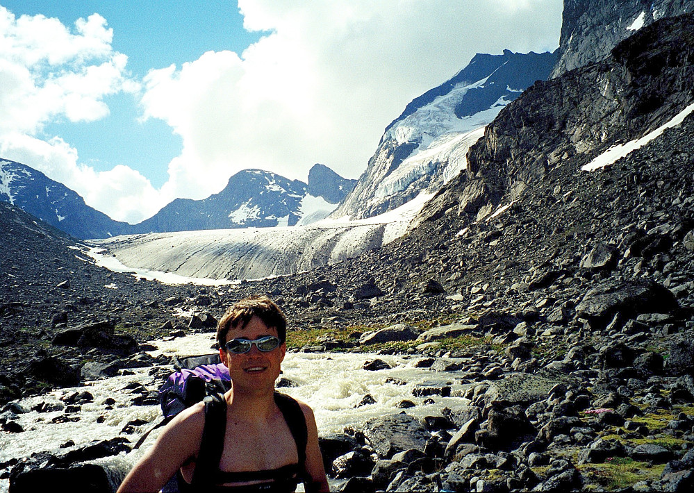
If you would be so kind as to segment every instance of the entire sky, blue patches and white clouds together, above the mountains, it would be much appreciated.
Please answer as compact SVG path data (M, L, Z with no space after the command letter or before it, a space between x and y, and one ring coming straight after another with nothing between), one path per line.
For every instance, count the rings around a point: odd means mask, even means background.
M365 169L475 53L552 51L561 0L0 0L0 158L139 222L241 169Z

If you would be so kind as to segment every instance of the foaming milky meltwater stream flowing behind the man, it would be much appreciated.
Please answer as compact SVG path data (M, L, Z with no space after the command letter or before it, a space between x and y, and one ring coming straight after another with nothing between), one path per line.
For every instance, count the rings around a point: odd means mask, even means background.
M214 336L211 334L190 335L168 342L156 341L154 344L158 346L158 351L151 354L199 355L213 352L210 349L213 343ZM388 362L392 369L365 371L364 362L374 358ZM449 383L452 385L453 395L460 395L456 390L464 388L456 382L454 372L415 368L413 363L417 359L368 353L287 353L282 364L283 377L297 386L286 387L281 391L313 408L321 436L341 433L346 426L359 426L372 417L397 414L401 411L397 404L404 399L416 404L407 410L409 415L415 417L438 416L446 406L458 406L465 402L462 397L414 396L413 389L419 383ZM132 400L140 394L131 394L126 387L136 382L148 390L157 390L161 379L149 376L149 368L132 371L134 375L90 381L82 387L63 388L19 401L22 407L31 409L40 403L58 405L62 403L61 397L75 391L87 390L94 396L93 402L82 405L79 415L76 415L79 416L79 421L75 422L53 423L54 418L65 414L62 409L20 414L17 422L24 428L22 433L0 432L0 462L23 458L37 451L58 449L69 440L76 446L85 446L94 440L125 436L134 444L144 431L159 421L161 411L158 405L134 406ZM376 403L357 408L366 394L371 394ZM108 406L108 402L112 402L110 399L115 403ZM427 404L424 404L425 400ZM136 428L136 432L131 435L123 434L124 426L135 419L142 419L148 424ZM157 434L158 431L151 433L138 451L91 462L102 463L112 469L128 470L142 451L154 442ZM7 492L8 487L8 480L0 480L0 493Z

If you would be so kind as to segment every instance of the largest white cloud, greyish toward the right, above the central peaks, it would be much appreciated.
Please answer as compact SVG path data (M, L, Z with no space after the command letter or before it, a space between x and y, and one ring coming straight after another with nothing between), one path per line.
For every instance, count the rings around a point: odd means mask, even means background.
M349 178L413 98L475 53L559 44L556 0L240 0L249 31L240 56L208 52L149 72L142 104L183 140L167 194L218 192L245 168L306 180L321 162Z

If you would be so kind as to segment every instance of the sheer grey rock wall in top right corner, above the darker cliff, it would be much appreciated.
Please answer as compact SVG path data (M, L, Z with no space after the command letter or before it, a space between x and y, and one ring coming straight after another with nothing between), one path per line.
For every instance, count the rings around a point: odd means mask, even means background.
M550 78L599 62L638 26L693 9L688 0L565 0L559 56Z

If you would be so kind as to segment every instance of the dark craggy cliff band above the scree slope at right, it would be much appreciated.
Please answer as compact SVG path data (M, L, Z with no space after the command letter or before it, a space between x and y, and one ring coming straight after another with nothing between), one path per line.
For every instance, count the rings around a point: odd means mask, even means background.
M490 212L504 194L518 199L561 162L572 159L579 169L674 117L694 101L693 25L692 14L663 19L618 44L610 58L529 87L470 148L467 173L424 206L413 226L454 206L479 219L481 209Z

